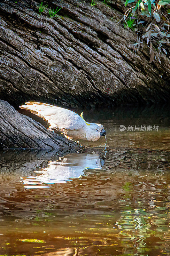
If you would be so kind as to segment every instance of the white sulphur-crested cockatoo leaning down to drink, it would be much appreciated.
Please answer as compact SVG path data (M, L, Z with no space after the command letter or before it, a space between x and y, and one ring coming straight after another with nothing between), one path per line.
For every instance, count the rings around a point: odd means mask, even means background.
M26 102L19 108L30 110L31 113L42 117L50 124L49 130L56 129L68 139L99 140L106 135L102 124L88 123L83 119L83 112L79 116L66 108L56 107L40 102Z

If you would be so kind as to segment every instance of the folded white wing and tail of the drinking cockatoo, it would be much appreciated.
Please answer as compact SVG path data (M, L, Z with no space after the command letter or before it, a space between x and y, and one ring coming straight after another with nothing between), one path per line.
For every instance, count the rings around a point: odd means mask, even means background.
M56 107L40 102L26 102L19 108L30 110L31 113L47 120L49 124L55 124L58 128L66 130L79 130L86 126L85 121L75 112L66 108Z

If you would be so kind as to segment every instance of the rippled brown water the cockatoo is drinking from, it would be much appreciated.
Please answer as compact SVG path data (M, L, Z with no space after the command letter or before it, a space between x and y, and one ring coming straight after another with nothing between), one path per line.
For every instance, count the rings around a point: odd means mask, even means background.
M0 151L0 254L169 255L169 109L91 109L84 118L104 125L107 144ZM144 124L158 132L127 131Z

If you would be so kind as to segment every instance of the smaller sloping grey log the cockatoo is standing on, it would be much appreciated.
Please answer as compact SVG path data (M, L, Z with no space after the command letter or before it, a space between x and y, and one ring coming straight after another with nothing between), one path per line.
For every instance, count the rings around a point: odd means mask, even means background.
M0 148L80 148L78 143L50 132L42 124L0 100Z

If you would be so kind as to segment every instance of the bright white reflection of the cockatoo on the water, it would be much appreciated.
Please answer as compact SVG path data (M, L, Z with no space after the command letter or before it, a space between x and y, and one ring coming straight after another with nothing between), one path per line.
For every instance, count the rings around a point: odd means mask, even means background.
M99 154L82 153L59 157L57 161L49 161L48 166L36 170L37 176L23 177L20 182L27 184L24 188L49 188L40 184L66 183L71 178L79 178L87 169L102 169L104 160ZM34 185L34 186L31 186Z

